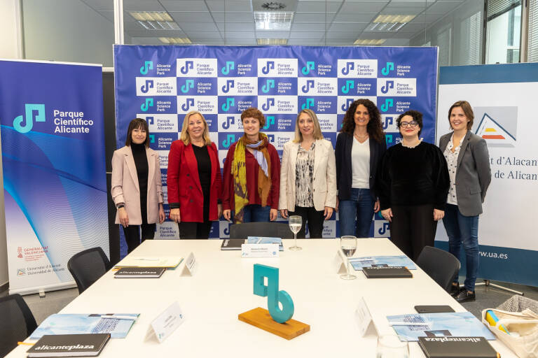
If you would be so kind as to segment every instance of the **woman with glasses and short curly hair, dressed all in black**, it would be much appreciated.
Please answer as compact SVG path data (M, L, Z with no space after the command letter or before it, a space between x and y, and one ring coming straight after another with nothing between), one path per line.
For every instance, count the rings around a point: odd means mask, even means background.
M390 222L392 242L413 260L434 245L450 185L443 153L419 139L422 113L408 110L396 120L401 143L383 156L376 187L381 215Z

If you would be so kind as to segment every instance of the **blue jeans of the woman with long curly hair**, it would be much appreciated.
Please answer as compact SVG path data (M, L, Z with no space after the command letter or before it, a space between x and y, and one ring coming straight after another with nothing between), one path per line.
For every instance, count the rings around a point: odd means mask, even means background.
M374 203L370 189L351 188L350 199L340 201L338 205L340 236L370 237Z

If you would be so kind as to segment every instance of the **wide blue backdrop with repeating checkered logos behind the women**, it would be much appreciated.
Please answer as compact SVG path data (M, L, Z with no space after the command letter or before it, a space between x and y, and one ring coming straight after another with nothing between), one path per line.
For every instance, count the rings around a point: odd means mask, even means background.
M262 131L280 155L301 109L317 113L335 145L347 106L359 98L377 103L389 146L399 143L396 117L408 109L424 113L421 135L434 142L437 48L116 45L114 66L118 146L130 120L146 119L163 184L170 144L190 110L205 116L221 161L242 136L240 115L249 107L264 113ZM324 237L338 231L336 220L325 222ZM210 236L228 237L228 222L215 222ZM371 236L389 236L382 217ZM159 225L159 237L178 238L177 225Z

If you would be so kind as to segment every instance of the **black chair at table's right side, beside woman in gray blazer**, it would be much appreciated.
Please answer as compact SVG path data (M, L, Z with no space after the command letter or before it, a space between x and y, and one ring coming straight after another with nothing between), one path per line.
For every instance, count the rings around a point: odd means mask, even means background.
M425 246L422 249L417 264L446 292L450 292L452 282L460 271L460 260L457 257L432 246Z

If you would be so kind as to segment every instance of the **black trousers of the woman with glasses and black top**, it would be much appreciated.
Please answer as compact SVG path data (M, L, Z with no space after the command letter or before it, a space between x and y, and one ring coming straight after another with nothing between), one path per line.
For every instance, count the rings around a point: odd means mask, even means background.
M390 239L404 254L417 261L422 249L433 246L437 222L433 204L392 206Z

